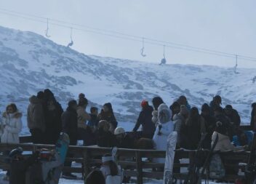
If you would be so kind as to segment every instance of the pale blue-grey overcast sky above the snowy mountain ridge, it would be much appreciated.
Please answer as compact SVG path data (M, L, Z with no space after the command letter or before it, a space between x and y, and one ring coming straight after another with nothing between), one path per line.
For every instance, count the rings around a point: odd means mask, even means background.
M0 8L89 25L141 37L256 57L255 0L0 0ZM1 14L0 25L44 35L46 24ZM49 25L50 39L68 44L70 30ZM163 47L84 31L73 31L73 49L100 55L159 63ZM168 63L233 67L235 59L167 48ZM239 67L256 62L239 60Z

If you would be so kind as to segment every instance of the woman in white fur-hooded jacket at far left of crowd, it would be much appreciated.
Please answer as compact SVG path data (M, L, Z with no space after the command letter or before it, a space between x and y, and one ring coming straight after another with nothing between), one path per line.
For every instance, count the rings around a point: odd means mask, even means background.
M19 133L22 129L22 114L17 111L17 106L12 103L7 106L2 117L3 134L1 143L20 143Z

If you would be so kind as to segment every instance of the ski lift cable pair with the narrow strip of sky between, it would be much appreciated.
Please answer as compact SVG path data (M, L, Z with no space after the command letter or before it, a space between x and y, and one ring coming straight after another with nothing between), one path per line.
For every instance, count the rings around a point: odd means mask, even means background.
M31 19L30 17L24 17L24 16L20 16L20 15L15 15L15 14L12 14L12 13L7 13L7 12L0 12L0 13L15 16L15 17L21 17L21 18L24 18L24 19L27 19L27 20L33 20L33 21L40 22L40 23L46 23L45 22L45 19L46 19L45 17L40 17L40 18L44 18L44 20L36 20L36 19ZM52 20L52 19L49 19L49 20ZM62 24L59 24L59 23L52 23L52 21L49 24L50 25L57 25L57 26L60 26L60 27L63 27L63 28L70 28L70 26L68 26L68 25L62 25ZM101 33L100 31L92 31L92 30L81 29L81 28L73 28L73 29L76 29L76 30L79 30L79 31L90 32L90 33L97 33L97 34L101 34L101 35L104 35L104 36L112 36L112 37L119 38L119 39L127 39L127 40L131 40L131 41L140 41L139 39L129 38L128 37L129 35L127 35L127 34L124 34L125 36L117 36L117 35L114 35L114 33ZM141 39L141 37L140 37L140 39ZM223 56L223 57L235 57L234 55L231 55L231 54L225 53L225 52L215 52L215 51L212 52L212 50L208 50L208 49L205 49L205 51L203 51L203 50L197 49L197 47L191 47L190 49L189 48L184 48L184 47L175 47L175 46L172 45L171 42L167 42L167 41L162 41L162 42L169 43L169 44L166 44L166 47L171 47L171 48L175 48L175 49L183 49L183 50L188 50L188 51L193 51L193 52L201 52L201 53L205 53L205 54L209 54L209 55L217 55L217 56ZM162 44L154 42L154 39L147 39L147 38L144 38L144 43L153 44L153 45L162 45ZM247 56L243 56L243 55L237 55L237 56L241 60L256 61L255 57L247 57Z

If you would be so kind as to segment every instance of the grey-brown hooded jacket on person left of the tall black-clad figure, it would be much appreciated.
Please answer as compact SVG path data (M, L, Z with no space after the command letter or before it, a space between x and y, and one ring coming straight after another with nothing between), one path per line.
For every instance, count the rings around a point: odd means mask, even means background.
M30 104L28 105L28 128L29 129L40 129L42 132L45 131L45 118L43 105L38 97L32 96L29 98Z

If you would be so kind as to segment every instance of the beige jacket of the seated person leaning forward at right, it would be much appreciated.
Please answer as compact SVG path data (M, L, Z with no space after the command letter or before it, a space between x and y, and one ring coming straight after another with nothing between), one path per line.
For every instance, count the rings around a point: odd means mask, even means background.
M217 135L218 141L214 151L239 151L244 149L242 146L234 146L227 135L220 134L216 131L212 134L212 145L215 142Z

